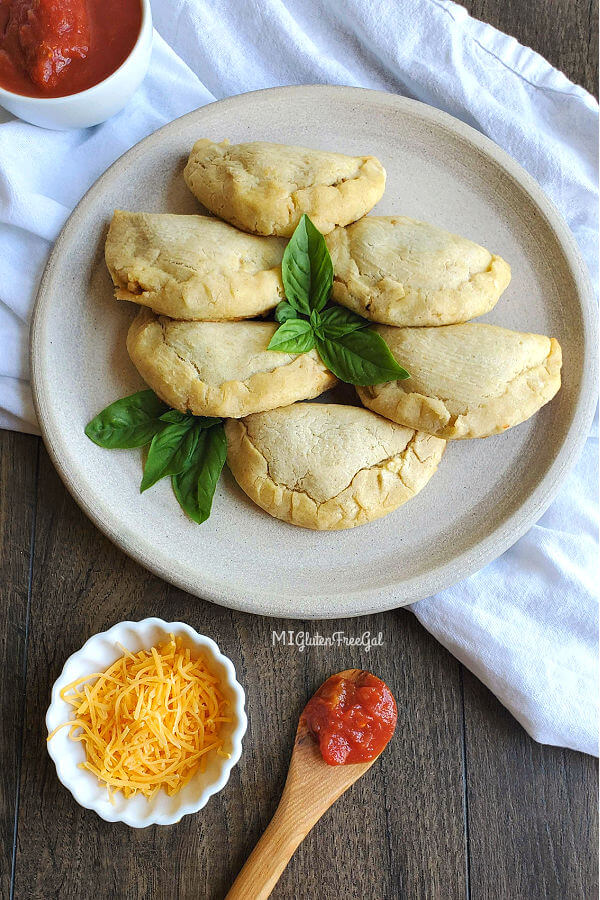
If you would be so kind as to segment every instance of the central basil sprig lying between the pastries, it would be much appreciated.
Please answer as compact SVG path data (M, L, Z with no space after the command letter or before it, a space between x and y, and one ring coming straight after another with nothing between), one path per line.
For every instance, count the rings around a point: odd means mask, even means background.
M286 300L275 310L279 328L267 349L308 353L316 347L327 368L348 384L410 378L367 319L343 306L327 306L333 265L323 235L306 215L285 249L281 273Z

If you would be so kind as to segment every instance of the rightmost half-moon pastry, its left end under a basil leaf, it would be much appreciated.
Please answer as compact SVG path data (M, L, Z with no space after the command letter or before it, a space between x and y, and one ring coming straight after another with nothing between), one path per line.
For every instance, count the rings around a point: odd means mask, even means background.
M357 388L365 406L446 440L488 437L524 422L560 388L554 338L496 325L377 326L405 381Z

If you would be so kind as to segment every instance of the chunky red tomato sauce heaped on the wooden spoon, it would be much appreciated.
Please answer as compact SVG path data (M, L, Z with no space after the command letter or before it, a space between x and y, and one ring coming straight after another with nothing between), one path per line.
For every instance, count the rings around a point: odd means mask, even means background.
M325 762L341 766L378 756L394 733L398 711L387 684L360 672L356 680L328 678L303 715Z

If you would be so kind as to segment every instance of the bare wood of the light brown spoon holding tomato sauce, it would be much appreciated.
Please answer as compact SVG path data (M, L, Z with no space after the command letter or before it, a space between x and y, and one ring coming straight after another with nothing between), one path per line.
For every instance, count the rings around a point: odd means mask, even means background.
M339 676L356 681L361 671L346 669ZM302 713L279 806L225 900L265 900L313 825L377 758L328 765Z

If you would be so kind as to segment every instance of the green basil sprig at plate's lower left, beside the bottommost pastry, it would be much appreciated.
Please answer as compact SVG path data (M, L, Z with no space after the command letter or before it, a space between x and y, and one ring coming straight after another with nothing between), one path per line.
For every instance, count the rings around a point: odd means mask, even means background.
M150 444L140 491L170 475L184 512L198 524L208 519L227 456L221 419L169 409L154 391L138 391L103 409L85 433L110 450Z

